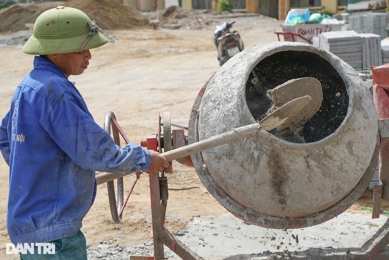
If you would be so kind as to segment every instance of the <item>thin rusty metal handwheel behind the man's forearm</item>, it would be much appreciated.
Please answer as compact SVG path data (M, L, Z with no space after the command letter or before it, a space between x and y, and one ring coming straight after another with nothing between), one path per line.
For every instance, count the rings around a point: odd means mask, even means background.
M114 120L114 121L113 121ZM112 111L108 111L105 115L104 119L104 130L111 135L112 128L112 136L115 144L120 146L120 138L119 131L115 125L116 117ZM123 212L120 212L123 206L123 177L117 179L117 200L115 193L115 184L114 181L107 182L108 189L108 200L110 203L111 216L114 223L119 224L122 221ZM120 214L118 213L120 212Z

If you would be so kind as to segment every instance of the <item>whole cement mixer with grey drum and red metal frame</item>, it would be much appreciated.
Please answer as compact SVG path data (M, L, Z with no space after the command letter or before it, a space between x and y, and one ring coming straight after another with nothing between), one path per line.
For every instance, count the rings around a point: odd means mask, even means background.
M231 129L256 122L261 125L278 103L282 108L308 94L316 104L287 116L285 124L200 149L177 161L193 166L210 194L247 223L271 229L318 225L360 198L373 177L380 142L387 138L383 127L378 129L377 112L365 83L350 65L331 53L299 42L248 48L227 61L200 90L187 137L183 129L171 131L170 114L165 112L159 118L163 128L159 125L158 134L143 140L142 145L169 153L204 143ZM120 132L114 116L106 122L107 131L112 124ZM150 259L164 258L164 244L182 259L202 259L164 227L165 173L169 172L171 167L161 176L150 175L154 236ZM96 179L100 184L119 177ZM120 222L123 203L116 204L113 186L108 187L113 193L113 219ZM373 212L377 206L379 210L380 193L382 187L377 187ZM383 249L389 243L388 230L389 224L385 224L362 248L348 253L321 250L314 259L353 259L351 254L358 255L355 259L371 259L372 255L386 259L389 253ZM300 256L296 254L296 259Z

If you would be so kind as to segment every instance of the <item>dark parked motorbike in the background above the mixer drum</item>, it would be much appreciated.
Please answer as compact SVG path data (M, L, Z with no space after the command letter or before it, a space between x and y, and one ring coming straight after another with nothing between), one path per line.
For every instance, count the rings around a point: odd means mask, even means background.
M222 23L216 26L213 41L217 49L217 59L222 66L227 60L245 49L242 39L237 31L230 31L232 24Z

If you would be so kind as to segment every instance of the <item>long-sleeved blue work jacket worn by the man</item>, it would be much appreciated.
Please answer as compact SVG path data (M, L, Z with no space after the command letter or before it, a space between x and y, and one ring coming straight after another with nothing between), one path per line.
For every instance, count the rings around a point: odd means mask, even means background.
M0 126L10 166L7 229L13 244L73 236L96 193L95 170L147 171L150 153L119 148L51 61L34 58Z

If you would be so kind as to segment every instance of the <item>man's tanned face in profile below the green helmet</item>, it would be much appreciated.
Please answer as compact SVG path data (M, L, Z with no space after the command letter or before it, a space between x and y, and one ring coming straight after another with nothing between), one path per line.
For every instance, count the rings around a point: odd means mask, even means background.
M70 75L80 75L89 65L92 58L89 50L64 54L49 54L47 58L56 64L69 78Z

